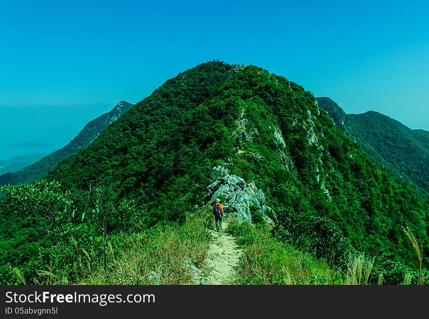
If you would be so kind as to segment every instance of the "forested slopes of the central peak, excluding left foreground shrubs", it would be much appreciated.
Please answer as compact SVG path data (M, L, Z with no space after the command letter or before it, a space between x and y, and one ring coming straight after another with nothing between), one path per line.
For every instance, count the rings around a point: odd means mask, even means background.
M334 263L355 249L415 266L408 224L428 264L428 204L347 138L309 91L255 66L213 61L177 75L46 180L112 186L146 207L151 226L205 205L213 166L231 162L232 174L263 190L283 241Z

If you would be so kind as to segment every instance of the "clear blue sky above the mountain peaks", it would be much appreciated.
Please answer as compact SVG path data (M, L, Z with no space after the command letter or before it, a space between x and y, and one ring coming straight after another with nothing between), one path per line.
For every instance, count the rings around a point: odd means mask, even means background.
M0 0L0 111L102 114L219 59L283 75L346 113L429 131L428 3Z

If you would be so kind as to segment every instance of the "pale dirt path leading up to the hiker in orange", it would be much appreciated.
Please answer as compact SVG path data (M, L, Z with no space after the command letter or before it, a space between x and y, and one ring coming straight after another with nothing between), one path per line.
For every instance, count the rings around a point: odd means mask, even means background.
M228 220L222 222L222 228L226 229ZM193 284L226 285L234 280L241 247L235 239L224 230L217 232L211 230L214 238L207 251L206 261L202 269L190 266L193 275Z

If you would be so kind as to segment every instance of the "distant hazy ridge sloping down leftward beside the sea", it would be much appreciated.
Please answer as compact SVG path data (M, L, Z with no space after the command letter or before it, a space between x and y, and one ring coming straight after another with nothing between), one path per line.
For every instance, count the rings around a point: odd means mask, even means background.
M19 169L22 170L20 171L8 172L0 175L0 185L33 183L39 178L42 178L59 162L61 162L61 160L86 148L107 126L116 121L121 114L127 112L132 106L133 104L125 101L119 102L110 112L104 113L86 124L82 131L80 131L78 135L76 135L76 137L63 148L44 156L43 158L39 157L30 163L31 165L27 164L25 166L21 166ZM36 145L37 143L39 142L30 142L26 143L25 146L28 146L29 144Z

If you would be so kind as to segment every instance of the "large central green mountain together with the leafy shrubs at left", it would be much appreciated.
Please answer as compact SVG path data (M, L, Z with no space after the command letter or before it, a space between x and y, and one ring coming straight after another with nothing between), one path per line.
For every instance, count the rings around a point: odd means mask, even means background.
M257 198L244 213L254 225L273 221L270 234L282 243L338 268L350 254L376 258L385 282L398 283L406 267L419 267L409 226L429 265L428 203L345 136L311 92L253 65L211 61L169 79L41 180L3 187L0 209L25 218L21 229L39 227L20 238L42 243L43 234L54 247L37 261L26 247L26 274L35 265L67 269L82 249L88 267L107 269L107 256L129 247L124 233L151 240L154 229L209 209L238 177ZM238 213L239 194L229 191L221 200ZM4 259L13 260L20 248L9 246L16 250Z

